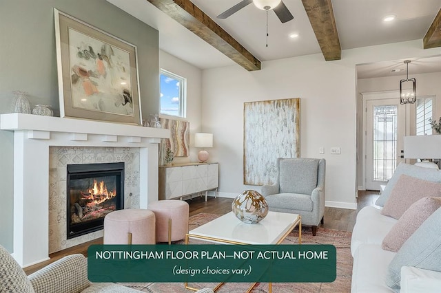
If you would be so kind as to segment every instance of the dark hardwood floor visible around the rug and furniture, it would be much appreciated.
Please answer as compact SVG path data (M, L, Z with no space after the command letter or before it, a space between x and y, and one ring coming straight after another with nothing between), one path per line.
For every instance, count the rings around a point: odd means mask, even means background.
M373 206L373 203L378 198L378 191L360 191L357 198L357 210L348 210L346 208L329 208L325 207L325 223L320 225L320 227L331 228L336 230L345 230L351 232L353 225L356 222L356 216L359 210L365 206ZM197 215L198 213L211 213L216 215L224 215L232 210L233 199L225 197L209 197L207 202L205 202L205 197L194 197L193 199L188 199L189 203L189 215ZM31 265L25 268L26 274L32 274L45 265L61 259L68 254L82 253L85 256L88 254L88 247L92 244L102 244L103 238L99 238L87 243L83 243L79 246L74 246L59 252L50 254L49 261L43 261L42 263L37 263L36 265Z

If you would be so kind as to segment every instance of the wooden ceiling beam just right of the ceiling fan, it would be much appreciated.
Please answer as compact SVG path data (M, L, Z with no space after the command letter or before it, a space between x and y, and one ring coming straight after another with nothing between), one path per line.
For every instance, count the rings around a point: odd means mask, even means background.
M340 60L342 49L331 0L302 0L326 61Z

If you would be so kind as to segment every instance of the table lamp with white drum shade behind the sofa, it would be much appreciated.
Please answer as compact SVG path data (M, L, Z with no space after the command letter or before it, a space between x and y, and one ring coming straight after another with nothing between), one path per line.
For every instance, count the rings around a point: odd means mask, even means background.
M404 137L404 158L420 159L416 166L439 169L431 159L441 159L441 135L411 135Z

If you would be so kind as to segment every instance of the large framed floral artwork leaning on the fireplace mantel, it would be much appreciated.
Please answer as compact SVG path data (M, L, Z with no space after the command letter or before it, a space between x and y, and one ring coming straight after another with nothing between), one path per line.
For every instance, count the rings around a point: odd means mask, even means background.
M141 124L136 46L54 8L60 116Z

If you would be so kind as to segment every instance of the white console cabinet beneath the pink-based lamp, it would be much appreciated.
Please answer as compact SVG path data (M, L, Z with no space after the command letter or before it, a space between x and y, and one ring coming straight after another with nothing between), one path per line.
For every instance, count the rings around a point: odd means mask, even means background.
M218 163L188 163L159 166L159 199L172 199L218 188Z

